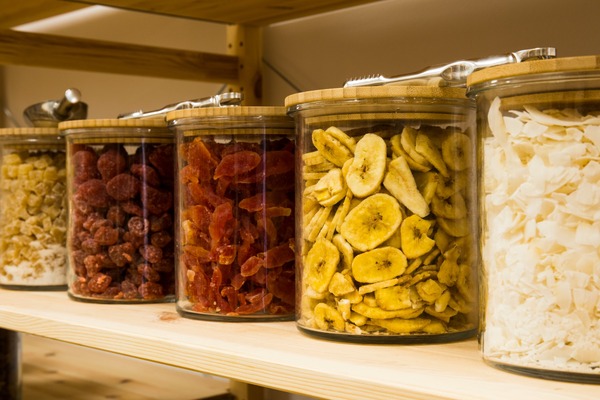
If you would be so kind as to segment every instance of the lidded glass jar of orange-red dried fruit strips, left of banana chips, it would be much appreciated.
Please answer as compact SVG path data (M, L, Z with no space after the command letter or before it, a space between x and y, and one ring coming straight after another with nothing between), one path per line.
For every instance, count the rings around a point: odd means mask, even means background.
M179 313L293 319L293 120L283 107L181 110L167 120L179 160Z

